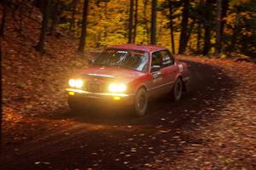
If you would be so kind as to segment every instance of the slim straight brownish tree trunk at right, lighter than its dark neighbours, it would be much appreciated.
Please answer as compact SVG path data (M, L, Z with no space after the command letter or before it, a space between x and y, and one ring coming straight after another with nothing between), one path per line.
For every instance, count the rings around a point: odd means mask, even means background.
M215 54L221 53L221 14L222 14L222 2L221 0L217 0L217 20L216 20L216 46L215 46Z

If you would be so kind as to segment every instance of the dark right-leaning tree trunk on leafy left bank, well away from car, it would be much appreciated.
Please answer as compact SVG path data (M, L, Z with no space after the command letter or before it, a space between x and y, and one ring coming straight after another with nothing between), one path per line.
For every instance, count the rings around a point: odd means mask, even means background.
M41 34L40 34L38 45L36 46L36 49L41 54L44 53L44 42L45 42L46 31L48 28L50 3L51 3L51 0L46 0L46 4L44 7L44 18L43 18L43 22L42 22Z

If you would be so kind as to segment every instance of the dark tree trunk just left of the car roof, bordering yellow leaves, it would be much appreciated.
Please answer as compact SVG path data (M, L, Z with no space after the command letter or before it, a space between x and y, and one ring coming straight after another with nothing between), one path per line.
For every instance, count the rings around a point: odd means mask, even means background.
M86 29L87 29L88 11L89 11L89 0L84 0L82 29L81 29L81 37L80 37L80 42L79 42L79 52L84 52L85 38L86 38L86 33L87 33Z

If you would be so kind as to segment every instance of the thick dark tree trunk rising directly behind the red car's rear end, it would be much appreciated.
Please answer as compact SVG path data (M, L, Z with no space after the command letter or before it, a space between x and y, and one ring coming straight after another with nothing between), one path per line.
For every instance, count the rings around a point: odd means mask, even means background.
M183 54L186 50L186 37L187 37L187 27L188 27L188 22L189 22L189 0L184 0L183 3L183 20L181 23L181 33L179 37L179 48L178 48L178 53Z

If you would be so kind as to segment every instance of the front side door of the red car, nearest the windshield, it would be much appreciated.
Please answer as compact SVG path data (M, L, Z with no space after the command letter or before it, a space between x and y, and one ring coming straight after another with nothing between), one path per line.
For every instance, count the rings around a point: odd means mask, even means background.
M162 87L164 85L164 77L162 76L162 59L160 52L154 52L151 54L151 66L150 66L150 82L149 82L149 94L151 97L158 97L163 94ZM159 68L157 68L159 67Z

